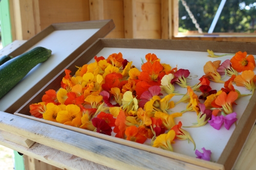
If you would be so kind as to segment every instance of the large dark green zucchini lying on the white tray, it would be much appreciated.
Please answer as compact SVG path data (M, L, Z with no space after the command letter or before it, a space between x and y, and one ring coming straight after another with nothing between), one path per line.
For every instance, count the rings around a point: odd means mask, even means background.
M0 65L0 99L22 80L33 67L46 61L51 55L51 50L44 47L35 47L31 51Z

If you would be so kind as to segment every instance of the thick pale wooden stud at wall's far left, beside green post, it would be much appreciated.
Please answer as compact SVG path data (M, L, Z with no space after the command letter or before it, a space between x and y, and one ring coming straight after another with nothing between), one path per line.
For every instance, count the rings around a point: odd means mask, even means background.
M35 35L33 1L13 0L13 5L16 39L30 39Z

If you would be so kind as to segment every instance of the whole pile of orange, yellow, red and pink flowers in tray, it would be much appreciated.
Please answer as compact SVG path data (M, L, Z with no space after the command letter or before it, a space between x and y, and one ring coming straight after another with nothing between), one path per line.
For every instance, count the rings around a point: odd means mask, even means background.
M209 57L221 57L208 51ZM141 69L122 54L108 58L94 57L95 62L77 67L75 76L66 69L58 91L50 89L42 96L42 102L31 104L30 113L38 118L69 125L118 138L145 143L152 147L174 151L177 140L196 143L175 119L186 112L195 112L197 124L191 128L209 124L212 128L229 130L237 122L233 112L236 100L244 95L234 88L244 86L255 90L254 57L238 52L230 60L208 61L204 75L195 85L189 85L189 70L161 63L155 54L147 54ZM227 81L223 78L229 76ZM219 90L211 89L210 82L223 83ZM186 93L175 91L180 86ZM166 94L166 95L163 95ZM199 95L198 95L199 94ZM173 96L182 95L180 101ZM172 108L186 103L180 112ZM210 160L210 150L196 150L197 158Z

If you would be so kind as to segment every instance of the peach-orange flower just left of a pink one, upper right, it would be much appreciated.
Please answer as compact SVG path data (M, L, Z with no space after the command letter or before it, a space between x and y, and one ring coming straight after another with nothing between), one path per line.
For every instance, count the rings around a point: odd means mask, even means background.
M209 80L214 81L216 83L224 83L221 80L221 75L217 71L218 67L220 66L221 60L217 60L214 62L208 61L204 65L204 73Z

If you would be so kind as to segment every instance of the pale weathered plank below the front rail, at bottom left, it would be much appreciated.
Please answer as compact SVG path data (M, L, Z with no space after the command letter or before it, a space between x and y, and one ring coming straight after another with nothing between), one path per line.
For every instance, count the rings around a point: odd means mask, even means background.
M112 170L112 168L109 168L100 164L96 164L94 162L79 158L77 156L74 156L66 152L53 149L51 147L47 147L46 145L43 145L40 143L35 143L32 145L31 148L28 149L26 147L23 147L22 145L5 140L1 135L1 133L0 133L0 144L10 149L13 149L15 151L18 151L20 153L23 153L25 158L24 164L25 164L26 170L30 170L27 168L29 167L29 164L30 164L29 158L31 158L31 162L32 162L32 159L35 158L36 160L40 160L42 162L48 163L50 165L53 165L61 169L66 168L69 170L80 170L80 169ZM47 170L51 170L51 169L47 169Z

